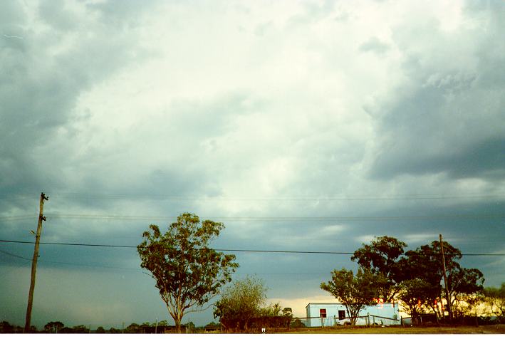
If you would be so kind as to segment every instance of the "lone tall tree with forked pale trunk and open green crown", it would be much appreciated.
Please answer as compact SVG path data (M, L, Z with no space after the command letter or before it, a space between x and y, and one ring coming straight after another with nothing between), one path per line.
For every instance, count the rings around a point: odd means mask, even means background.
M149 228L137 246L140 266L155 279L177 333L181 333L184 314L201 311L231 281L239 264L234 262L234 255L209 248L209 242L224 229L222 223L200 222L197 215L184 213L168 226L165 234L156 225Z

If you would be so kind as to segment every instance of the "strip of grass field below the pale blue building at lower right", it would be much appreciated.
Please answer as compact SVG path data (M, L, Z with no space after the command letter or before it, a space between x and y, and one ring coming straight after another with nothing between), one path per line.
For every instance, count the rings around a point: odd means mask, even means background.
M503 334L505 325L375 328L301 328L290 334Z

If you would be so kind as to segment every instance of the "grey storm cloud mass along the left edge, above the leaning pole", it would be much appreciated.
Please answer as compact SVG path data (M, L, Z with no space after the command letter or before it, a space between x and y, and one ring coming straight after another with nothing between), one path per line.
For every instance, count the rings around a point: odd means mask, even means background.
M3 5L0 14L6 16L0 24L4 33L0 36L0 172L10 173L1 179L0 191L61 188L65 186L60 172L64 158L51 164L44 175L38 173L41 167L48 167L43 155L58 152L44 147L61 129L68 132L66 144L70 144L77 131L68 125L76 120L73 108L79 95L135 56L128 51L129 38L118 36L122 29L98 24L81 31L77 23L82 24L87 14L72 14L65 6L72 3L42 1L35 11L41 21L30 25L25 9L15 4ZM128 15L134 14L130 11ZM88 20L93 24L93 19ZM38 28L43 23L50 26L41 31ZM58 49L61 52L53 53Z

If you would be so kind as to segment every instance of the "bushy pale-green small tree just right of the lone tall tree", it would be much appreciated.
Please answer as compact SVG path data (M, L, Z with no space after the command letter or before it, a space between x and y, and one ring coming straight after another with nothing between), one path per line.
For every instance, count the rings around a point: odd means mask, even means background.
M261 315L265 301L263 281L247 276L224 288L214 304L214 318L219 318L225 330L247 330L249 320Z

